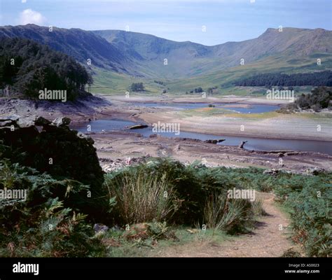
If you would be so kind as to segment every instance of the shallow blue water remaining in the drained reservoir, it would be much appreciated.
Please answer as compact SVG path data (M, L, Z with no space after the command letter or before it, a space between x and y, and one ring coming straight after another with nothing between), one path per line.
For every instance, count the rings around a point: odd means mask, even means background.
M172 109L198 109L206 108L208 104L195 103L195 104L160 104L160 103L141 103L134 104L135 106L145 106L145 107L170 107ZM275 111L279 106L271 105L250 105L250 108L242 108L242 106L237 107L239 104L214 104L216 107L226 106L226 109L234 109L234 111L241 111L240 113L263 113L268 111ZM232 107L230 107L232 106ZM81 125L76 125L72 127L80 132L137 132L142 134L144 137L149 137L151 134L155 134L152 131L152 127L144 127L137 130L130 130L128 127L132 125L137 125L138 123L122 120L122 119L108 119L108 120L92 120L89 123L84 123ZM88 126L90 130L88 131ZM241 141L247 141L247 144L244 148L249 150L256 151L313 151L319 153L327 153L332 155L332 145L328 141L313 141L313 140L294 140L294 139L263 139L255 137L232 137L232 136L223 136L223 135L214 135L214 134L203 134L198 132L184 132L181 131L179 135L176 135L174 132L162 132L158 133L163 137L181 137L181 138L191 138L191 139L200 139L202 141L208 139L226 139L222 141L221 145L226 146L238 146Z

